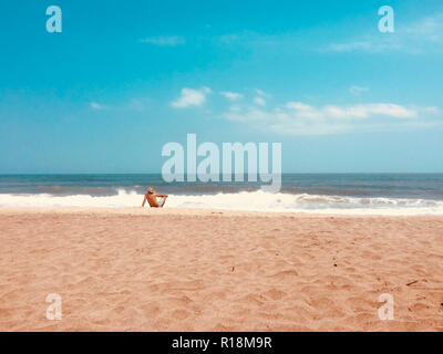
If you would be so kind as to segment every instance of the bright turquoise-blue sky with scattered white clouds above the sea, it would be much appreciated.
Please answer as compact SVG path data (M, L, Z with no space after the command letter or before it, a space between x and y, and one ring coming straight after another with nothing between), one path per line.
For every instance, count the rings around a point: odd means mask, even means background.
M281 143L284 173L443 173L441 0L4 0L0 28L0 174L159 173L189 133Z

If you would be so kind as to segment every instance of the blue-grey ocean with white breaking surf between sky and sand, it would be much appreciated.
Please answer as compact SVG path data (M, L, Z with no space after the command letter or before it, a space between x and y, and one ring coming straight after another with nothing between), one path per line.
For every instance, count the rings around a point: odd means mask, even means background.
M282 174L261 183L165 183L158 174L0 175L0 207L137 207L148 186L166 207L356 215L443 215L443 174Z

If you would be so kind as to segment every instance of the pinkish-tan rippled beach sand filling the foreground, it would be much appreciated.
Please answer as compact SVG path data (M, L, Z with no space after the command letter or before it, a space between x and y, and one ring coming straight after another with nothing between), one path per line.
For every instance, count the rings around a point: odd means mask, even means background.
M443 331L443 217L0 208L0 244L1 331Z

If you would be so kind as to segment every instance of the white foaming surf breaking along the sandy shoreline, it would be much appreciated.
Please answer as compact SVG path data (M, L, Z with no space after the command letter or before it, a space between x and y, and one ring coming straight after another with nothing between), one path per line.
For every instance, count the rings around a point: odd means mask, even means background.
M0 207L136 207L142 200L143 195L125 190L119 190L115 196L95 197L0 194ZM171 195L166 207L347 215L443 215L442 200L271 194L261 190L217 195Z

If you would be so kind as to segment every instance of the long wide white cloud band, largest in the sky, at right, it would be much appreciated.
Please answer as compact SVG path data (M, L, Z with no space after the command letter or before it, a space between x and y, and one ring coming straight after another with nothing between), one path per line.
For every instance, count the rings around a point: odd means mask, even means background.
M271 111L250 107L227 112L229 121L281 135L324 135L353 131L374 132L441 125L437 107L403 106L393 103L311 106L288 102Z

